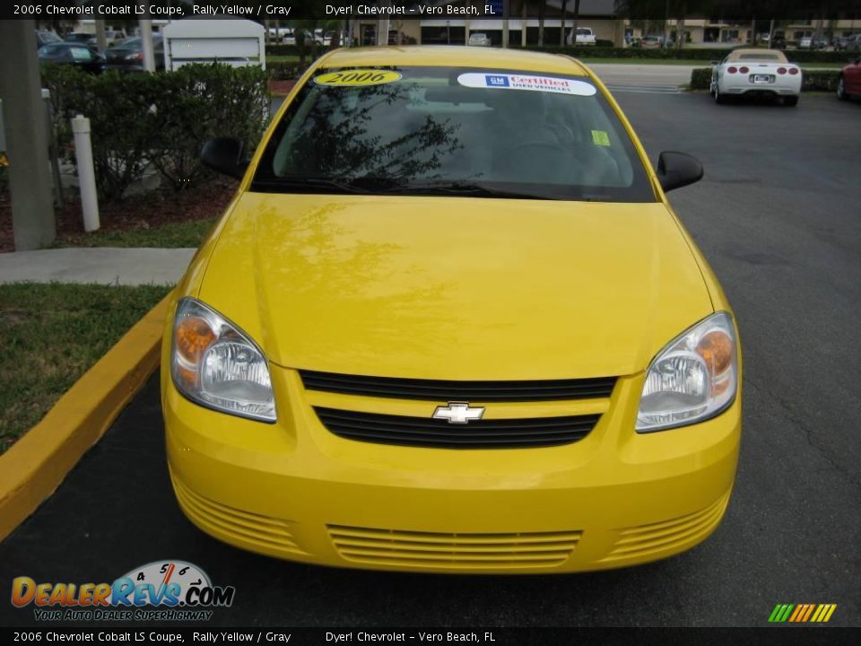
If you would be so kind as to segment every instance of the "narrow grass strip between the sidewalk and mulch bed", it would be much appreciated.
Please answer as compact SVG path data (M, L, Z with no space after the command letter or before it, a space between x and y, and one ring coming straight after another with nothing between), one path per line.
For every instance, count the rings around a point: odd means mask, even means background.
M161 247L179 249L200 246L204 235L217 217L188 222L165 223L161 226L138 227L126 231L105 230L75 233L57 240L55 247Z

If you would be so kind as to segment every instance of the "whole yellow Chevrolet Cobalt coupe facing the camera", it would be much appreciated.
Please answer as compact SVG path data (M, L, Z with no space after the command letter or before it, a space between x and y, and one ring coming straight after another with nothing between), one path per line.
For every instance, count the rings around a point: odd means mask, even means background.
M718 526L742 362L718 281L621 110L569 57L320 58L178 285L170 478L213 537L293 561L579 572Z

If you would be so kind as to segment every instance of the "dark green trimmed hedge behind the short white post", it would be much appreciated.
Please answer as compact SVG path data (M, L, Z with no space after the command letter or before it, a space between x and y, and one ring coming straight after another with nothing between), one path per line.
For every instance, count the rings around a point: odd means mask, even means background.
M185 65L163 74L98 76L69 65L42 71L61 147L72 149L69 119L77 113L90 118L104 199L121 198L151 165L173 188L188 186L209 172L199 155L213 136L236 136L253 149L268 114L267 80L256 66Z

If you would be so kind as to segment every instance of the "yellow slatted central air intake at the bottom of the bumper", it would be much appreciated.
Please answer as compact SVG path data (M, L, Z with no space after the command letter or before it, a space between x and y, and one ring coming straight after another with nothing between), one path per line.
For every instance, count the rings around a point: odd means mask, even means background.
M347 561L434 569L553 567L565 563L582 532L442 534L329 525L335 549Z

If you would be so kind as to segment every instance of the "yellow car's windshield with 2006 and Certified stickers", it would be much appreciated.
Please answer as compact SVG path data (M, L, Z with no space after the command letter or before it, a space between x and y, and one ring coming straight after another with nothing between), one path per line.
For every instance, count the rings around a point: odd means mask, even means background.
M318 70L251 190L656 200L586 78L451 67Z

